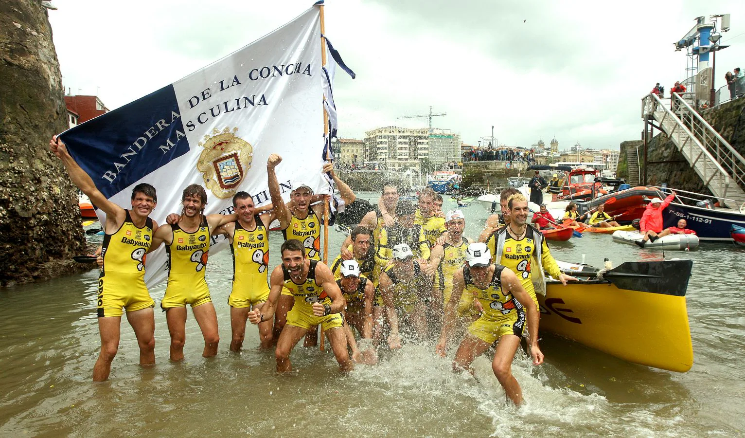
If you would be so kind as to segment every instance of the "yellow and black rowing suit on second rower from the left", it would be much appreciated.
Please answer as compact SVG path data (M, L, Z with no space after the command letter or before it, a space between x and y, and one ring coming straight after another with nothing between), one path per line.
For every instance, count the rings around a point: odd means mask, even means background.
M202 215L197 231L188 233L180 225L171 225L173 241L165 245L168 254L168 286L160 301L163 310L170 307L197 307L209 303L209 288L204 272L209 257L209 225Z

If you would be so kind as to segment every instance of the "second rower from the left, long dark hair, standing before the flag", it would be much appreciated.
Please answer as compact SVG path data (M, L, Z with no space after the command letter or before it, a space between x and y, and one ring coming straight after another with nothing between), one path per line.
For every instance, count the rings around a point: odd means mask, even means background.
M203 357L218 354L218 316L204 279L212 230L235 220L235 214L204 216L207 193L191 184L181 195L183 211L177 223L164 224L153 235L153 248L165 242L168 285L160 302L171 334L171 360L183 360L186 342L186 304L204 338ZM104 262L105 263L105 262Z

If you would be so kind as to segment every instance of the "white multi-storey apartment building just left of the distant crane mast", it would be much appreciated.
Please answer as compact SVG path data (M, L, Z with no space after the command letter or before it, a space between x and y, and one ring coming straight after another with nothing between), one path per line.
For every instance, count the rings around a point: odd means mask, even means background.
M428 128L386 126L373 129L365 132L366 161L381 170L419 169L419 159L428 157L429 140Z

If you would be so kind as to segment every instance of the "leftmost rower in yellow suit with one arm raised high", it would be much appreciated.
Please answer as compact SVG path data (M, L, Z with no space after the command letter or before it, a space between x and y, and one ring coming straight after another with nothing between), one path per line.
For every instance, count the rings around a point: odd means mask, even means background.
M92 204L106 213L104 245L101 255L104 266L98 278L98 331L101 352L93 367L93 380L105 381L111 372L111 362L119 348L122 309L132 326L140 349L140 365L155 363L155 301L145 286L145 253L150 249L153 231L158 224L148 215L158 198L150 184L138 184L132 190L132 209L124 210L109 201L93 184L67 151L65 143L51 138L49 147L62 160L72 182L83 191Z

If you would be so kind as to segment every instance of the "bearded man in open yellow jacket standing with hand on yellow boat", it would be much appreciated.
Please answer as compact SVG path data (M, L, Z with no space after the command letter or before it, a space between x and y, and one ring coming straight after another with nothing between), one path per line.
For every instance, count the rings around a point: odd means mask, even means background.
M543 234L532 225L527 225L527 199L522 194L510 196L507 200L510 223L494 231L486 240L486 246L495 260L515 272L523 289L538 307L536 287L545 295L545 269L551 277L566 285L568 280L577 280L561 272Z

